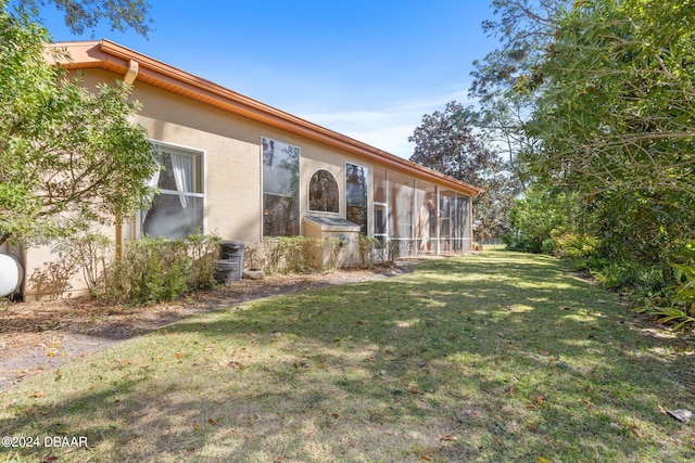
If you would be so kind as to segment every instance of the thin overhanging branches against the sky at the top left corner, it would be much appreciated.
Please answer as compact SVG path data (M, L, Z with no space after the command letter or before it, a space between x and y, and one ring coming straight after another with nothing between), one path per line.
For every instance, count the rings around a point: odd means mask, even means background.
M134 29L143 37L151 30L148 11L151 5L146 0L4 0L15 16L30 15L38 20L40 7L52 3L64 14L65 25L74 34L94 29L103 20L111 30Z

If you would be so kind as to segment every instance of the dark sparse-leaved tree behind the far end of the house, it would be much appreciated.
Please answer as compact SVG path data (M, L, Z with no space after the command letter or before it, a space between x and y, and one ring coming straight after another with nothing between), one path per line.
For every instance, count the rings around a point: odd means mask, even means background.
M473 131L473 119L471 107L451 102L444 112L425 115L408 141L416 143L412 162L484 190L473 201L476 239L483 240L501 233L516 193L505 163Z

